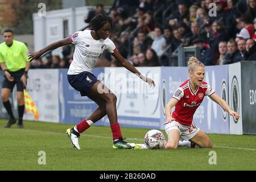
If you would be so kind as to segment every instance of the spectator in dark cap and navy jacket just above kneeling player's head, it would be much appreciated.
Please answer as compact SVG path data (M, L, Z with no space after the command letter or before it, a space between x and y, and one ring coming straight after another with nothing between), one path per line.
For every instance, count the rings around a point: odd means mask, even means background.
M200 60L204 65L216 65L214 61L213 51L209 49L209 45L204 44L204 40L197 38L192 42L193 46L200 47Z

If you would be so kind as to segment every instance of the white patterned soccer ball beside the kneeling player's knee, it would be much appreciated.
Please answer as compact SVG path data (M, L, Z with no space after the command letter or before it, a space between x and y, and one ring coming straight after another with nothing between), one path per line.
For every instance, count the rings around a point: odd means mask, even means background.
M164 141L164 134L159 130L150 130L144 137L144 144L149 149L163 148Z

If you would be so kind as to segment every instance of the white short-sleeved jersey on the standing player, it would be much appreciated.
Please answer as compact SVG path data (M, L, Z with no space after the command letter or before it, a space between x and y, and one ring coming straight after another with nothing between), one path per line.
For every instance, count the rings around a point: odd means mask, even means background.
M115 51L115 44L109 38L95 40L90 30L78 31L71 36L75 44L73 61L68 69L68 75L78 75L81 72L92 73L92 68L106 49L110 53Z

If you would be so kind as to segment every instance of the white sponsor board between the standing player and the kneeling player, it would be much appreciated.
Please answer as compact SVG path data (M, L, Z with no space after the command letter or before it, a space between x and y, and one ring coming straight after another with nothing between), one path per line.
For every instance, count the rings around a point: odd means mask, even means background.
M102 82L117 96L118 122L125 123L127 127L152 128L150 124L145 125L145 123L159 122L161 68L145 67L137 69L142 75L152 78L156 86L150 87L125 68L105 68L104 74L100 77ZM159 126L155 128L159 128Z

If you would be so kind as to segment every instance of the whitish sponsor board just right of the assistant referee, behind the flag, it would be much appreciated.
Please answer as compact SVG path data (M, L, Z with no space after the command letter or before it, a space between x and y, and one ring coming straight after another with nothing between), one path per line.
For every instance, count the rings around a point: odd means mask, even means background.
M59 70L30 69L27 92L39 111L39 121L59 122ZM35 120L31 112L24 113L23 119Z

